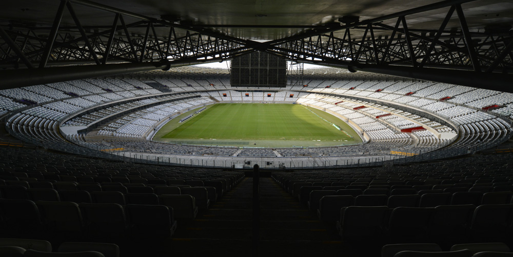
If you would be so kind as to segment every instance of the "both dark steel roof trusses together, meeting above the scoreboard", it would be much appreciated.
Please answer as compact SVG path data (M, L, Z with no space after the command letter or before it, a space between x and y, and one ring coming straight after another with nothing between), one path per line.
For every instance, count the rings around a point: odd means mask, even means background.
M513 73L513 36L507 30L469 29L461 4L472 1L447 0L361 22L317 26L300 35L260 43L209 29L216 25L186 26L87 0L62 0L52 26L0 24L0 67L38 70L41 74L49 66L95 64L105 70L112 67L110 63L127 63L131 67L159 63L145 66L151 70L266 51L296 62L346 67L350 71L475 87L492 83L486 87L512 91L509 82ZM112 23L82 25L80 15L74 11L76 6L108 12ZM446 15L436 28L418 29L408 23L408 15L437 9L445 10ZM73 18L73 25L61 25L64 13ZM458 28L447 28L451 20L458 22ZM113 69L111 74L131 71L134 70ZM77 73L74 78L81 77ZM11 76L16 75L19 76ZM16 84L20 80L9 82Z

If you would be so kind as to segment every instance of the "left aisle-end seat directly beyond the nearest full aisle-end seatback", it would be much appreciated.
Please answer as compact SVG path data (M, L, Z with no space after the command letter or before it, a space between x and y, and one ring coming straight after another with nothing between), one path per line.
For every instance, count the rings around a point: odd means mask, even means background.
M198 214L198 207L191 195L164 194L159 196L159 201L161 205L173 208L173 216L176 220L195 219Z

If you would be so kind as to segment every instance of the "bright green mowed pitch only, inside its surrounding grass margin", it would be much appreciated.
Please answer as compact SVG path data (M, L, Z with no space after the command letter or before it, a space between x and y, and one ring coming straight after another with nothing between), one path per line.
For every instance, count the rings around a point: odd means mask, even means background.
M308 109L292 104L215 104L163 138L350 140Z

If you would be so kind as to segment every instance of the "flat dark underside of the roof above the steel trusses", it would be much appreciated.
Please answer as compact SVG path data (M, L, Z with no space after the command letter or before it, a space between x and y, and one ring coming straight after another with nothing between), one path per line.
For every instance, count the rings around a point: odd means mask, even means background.
M4 1L0 17L17 24L36 24L49 26L61 1L55 0L17 0ZM79 1L72 1L79 2ZM85 2L85 1L80 1ZM377 18L416 7L441 1L435 0L102 0L95 1L106 6L141 14L155 19L168 19L173 23L191 27L210 28L226 35L243 39L274 40L318 29L319 27L340 24L343 16L358 16L360 21ZM445 1L448 2L448 1ZM452 1L457 2L457 1ZM513 21L513 3L503 0L459 1L471 30L480 30L488 26L510 26ZM438 28L448 8L436 9L408 15L410 29ZM82 6L75 7L80 22L87 26L105 26L112 24L109 13ZM456 15L455 15L456 16ZM453 16L447 28L459 28L458 18ZM126 18L130 22L130 18ZM70 14L65 13L63 24L74 25ZM384 22L394 26L395 21ZM157 33L158 32L157 28ZM167 35L167 30L161 30ZM363 32L362 32L363 33ZM343 36L343 31L339 32ZM380 33L376 32L379 36ZM357 36L356 34L354 36Z

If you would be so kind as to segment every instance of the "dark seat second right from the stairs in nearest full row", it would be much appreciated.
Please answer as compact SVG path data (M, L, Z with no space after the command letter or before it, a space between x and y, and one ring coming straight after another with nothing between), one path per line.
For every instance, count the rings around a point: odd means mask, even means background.
M424 243L435 208L397 207L392 210L388 222L391 242Z

